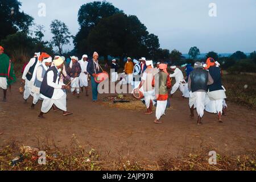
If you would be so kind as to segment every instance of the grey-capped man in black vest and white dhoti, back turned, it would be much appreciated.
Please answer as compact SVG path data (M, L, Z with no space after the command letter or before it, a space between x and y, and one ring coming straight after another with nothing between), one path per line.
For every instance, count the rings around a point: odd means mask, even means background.
M191 118L194 118L194 109L197 111L197 125L201 125L201 118L204 115L205 96L207 85L213 84L213 79L209 72L203 69L203 64L195 63L195 69L188 77L188 89L191 90L189 97L189 107L191 108Z

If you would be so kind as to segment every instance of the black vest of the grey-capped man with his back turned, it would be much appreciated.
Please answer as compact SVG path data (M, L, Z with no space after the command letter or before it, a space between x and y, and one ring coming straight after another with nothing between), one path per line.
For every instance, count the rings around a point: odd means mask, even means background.
M196 68L190 73L191 91L205 90L207 92L208 71L202 68Z

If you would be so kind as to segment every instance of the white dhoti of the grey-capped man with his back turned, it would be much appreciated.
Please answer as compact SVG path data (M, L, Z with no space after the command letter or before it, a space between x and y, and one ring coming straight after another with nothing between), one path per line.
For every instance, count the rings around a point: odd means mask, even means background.
M194 106L194 108L196 108L197 114L200 115L201 118L204 115L205 97L205 92L190 92L189 107L192 108L192 106Z

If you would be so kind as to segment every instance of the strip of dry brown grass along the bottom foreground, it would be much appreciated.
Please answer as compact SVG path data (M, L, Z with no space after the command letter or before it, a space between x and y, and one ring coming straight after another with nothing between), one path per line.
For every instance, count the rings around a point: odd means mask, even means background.
M158 161L139 160L120 156L118 159L104 158L95 149L85 151L74 142L72 150L60 150L56 146L41 146L39 150L46 151L46 165L38 164L38 156L24 153L18 143L12 142L0 147L0 170L13 171L255 171L255 151L240 156L221 156L217 154L217 164L210 165L208 152L198 152L180 158L170 158L164 155ZM210 151L210 150L208 150ZM22 161L11 164L16 156L22 156Z

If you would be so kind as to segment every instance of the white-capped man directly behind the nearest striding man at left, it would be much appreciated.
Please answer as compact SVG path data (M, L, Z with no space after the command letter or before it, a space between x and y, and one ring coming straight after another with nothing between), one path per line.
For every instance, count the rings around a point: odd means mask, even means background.
M38 103L40 99L40 87L42 85L42 81L46 71L51 67L52 57L44 58L42 64L39 65L38 69L36 69L36 77L34 85L32 86L31 92L33 93L33 103L31 105L31 109L35 108L35 105Z

